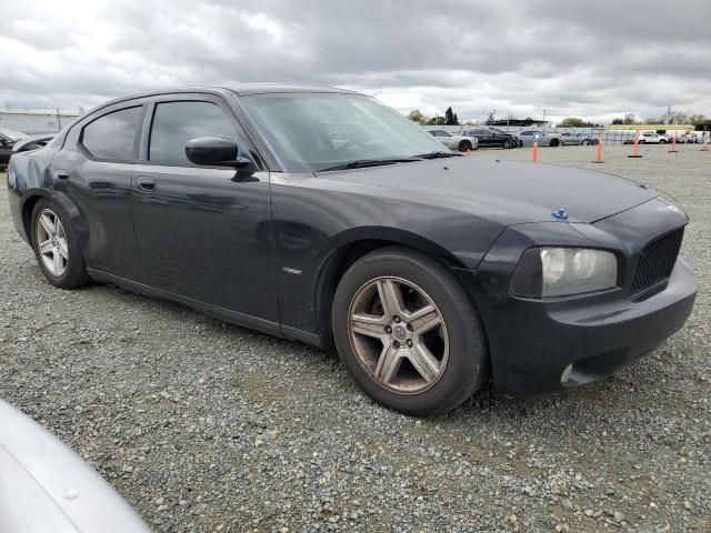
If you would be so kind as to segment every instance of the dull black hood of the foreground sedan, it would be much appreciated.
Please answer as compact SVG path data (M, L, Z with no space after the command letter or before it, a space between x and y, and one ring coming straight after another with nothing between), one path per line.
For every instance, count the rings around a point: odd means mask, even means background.
M320 178L401 190L408 200L432 194L494 208L501 222L555 220L592 223L644 203L658 194L615 175L550 164L477 157L435 159L388 167L320 173ZM407 197L405 197L407 193ZM487 210L491 213L491 209Z

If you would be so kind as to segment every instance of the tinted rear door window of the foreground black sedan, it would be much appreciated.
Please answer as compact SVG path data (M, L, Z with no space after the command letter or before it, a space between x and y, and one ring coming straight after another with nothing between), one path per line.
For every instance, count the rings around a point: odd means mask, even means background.
M99 159L136 159L141 109L140 105L127 108L99 117L84 127L81 143Z

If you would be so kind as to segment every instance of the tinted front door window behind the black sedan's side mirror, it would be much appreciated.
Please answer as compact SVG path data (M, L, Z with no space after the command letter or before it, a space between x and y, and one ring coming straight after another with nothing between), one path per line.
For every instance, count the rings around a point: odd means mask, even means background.
M192 164L186 157L186 142L198 137L238 141L230 119L214 103L159 103L153 114L148 159L164 164Z

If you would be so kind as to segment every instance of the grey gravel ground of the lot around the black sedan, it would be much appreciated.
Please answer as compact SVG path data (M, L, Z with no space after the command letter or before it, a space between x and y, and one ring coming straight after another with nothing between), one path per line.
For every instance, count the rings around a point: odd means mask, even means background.
M40 274L0 192L0 396L163 531L711 531L711 152L541 149L649 182L688 210L687 326L564 395L491 391L414 420L371 403L334 353L111 286ZM530 150L473 157L527 159Z

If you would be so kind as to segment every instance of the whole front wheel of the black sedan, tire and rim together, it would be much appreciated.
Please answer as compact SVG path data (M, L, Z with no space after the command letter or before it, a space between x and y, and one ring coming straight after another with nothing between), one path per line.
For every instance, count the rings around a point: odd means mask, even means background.
M380 294L391 294L385 301L399 303L383 304ZM398 308L401 319L391 316ZM427 310L418 323L414 316ZM434 315L439 322L431 326L438 321ZM421 326L422 320L429 329ZM477 309L447 268L418 252L385 248L353 263L336 291L332 321L348 373L372 400L394 411L413 416L444 413L469 399L488 378L489 354ZM363 324L365 333L360 331ZM437 359L427 366L429 381L417 370L418 364L423 368L414 356L422 345L424 353ZM384 364L388 359L395 363Z

